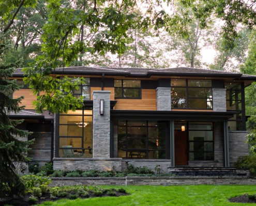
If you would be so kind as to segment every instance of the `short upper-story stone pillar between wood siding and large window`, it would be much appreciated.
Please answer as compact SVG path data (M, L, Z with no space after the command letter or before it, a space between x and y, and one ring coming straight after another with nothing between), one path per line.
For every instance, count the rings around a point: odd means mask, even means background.
M171 88L158 87L156 89L157 95L157 110L171 111Z

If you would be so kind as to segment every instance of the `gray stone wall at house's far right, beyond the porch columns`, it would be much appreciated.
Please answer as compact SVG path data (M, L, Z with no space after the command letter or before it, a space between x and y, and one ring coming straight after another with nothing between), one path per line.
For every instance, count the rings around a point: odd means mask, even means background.
M229 131L230 166L238 157L249 155L249 145L246 143L247 134L247 131Z

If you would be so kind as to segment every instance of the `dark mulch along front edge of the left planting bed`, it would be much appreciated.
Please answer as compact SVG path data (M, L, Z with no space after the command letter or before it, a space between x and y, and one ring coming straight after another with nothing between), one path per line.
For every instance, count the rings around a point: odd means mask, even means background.
M115 192L116 196L114 197L119 197L119 196L124 196L124 195L128 195L127 193L120 193L120 192ZM106 193L103 193L100 197L107 197L109 195L107 195ZM27 201L27 199L31 197L31 195L27 195L24 197L20 197L20 198L10 198L10 199L1 199L0 198L0 206L4 206L4 205L13 205L13 206L29 206L29 205L33 205L32 203L29 203ZM86 199L86 198L92 198L92 197L98 197L95 196L92 192L89 192L89 195L84 197L84 196L79 196L79 198L81 199ZM54 199L50 198L50 193L46 193L43 194L41 198L38 198L38 201L36 202L36 204L41 204L44 201L56 201L59 199L64 199L64 198L68 198L68 197L57 197Z

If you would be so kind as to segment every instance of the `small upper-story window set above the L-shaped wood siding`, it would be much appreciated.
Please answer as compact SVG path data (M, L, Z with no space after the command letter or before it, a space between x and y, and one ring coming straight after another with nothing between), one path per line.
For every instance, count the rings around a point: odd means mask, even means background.
M115 98L141 98L141 81L115 80Z

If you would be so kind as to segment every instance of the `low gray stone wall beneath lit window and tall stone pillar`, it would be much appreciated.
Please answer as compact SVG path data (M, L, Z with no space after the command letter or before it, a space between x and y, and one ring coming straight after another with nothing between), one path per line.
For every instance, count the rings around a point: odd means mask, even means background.
M119 158L54 158L53 159L54 170L90 170L97 169L100 171L107 170L122 170L122 159Z

